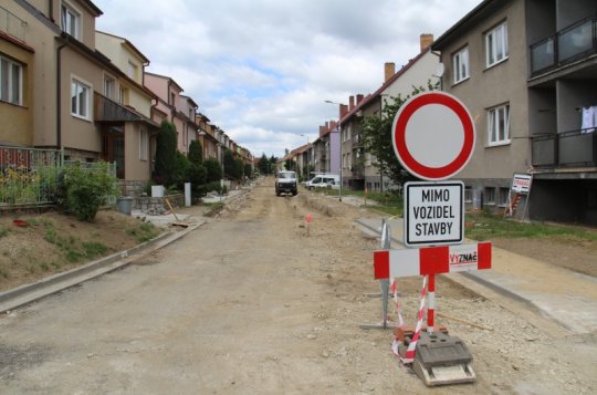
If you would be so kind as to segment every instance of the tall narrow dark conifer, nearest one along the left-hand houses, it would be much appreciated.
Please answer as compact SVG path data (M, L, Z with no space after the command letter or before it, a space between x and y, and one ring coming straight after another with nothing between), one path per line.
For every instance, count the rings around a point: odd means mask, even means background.
M163 121L156 139L154 180L157 184L171 186L176 183L176 125Z

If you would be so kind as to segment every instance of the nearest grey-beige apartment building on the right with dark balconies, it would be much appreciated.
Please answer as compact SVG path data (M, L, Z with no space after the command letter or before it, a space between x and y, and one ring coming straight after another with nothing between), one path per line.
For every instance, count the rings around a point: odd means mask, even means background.
M433 43L475 122L457 176L472 206L502 210L522 173L531 219L597 224L597 134L582 124L597 105L596 15L589 0L485 0Z

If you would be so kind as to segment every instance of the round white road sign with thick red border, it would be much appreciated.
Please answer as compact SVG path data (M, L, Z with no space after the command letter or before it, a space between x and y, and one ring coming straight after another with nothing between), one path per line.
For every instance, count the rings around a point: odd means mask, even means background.
M472 156L474 123L457 97L427 92L408 100L394 118L394 152L402 166L426 180L460 171Z

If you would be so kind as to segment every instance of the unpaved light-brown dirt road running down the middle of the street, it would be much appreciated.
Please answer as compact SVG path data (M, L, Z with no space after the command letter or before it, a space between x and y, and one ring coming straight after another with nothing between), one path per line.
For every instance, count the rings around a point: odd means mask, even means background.
M391 354L368 215L271 179L136 264L0 319L0 393L422 394ZM313 216L307 236L305 216ZM419 279L400 281L413 322ZM474 384L437 394L591 394L594 335L553 336L440 278L438 311L474 356Z

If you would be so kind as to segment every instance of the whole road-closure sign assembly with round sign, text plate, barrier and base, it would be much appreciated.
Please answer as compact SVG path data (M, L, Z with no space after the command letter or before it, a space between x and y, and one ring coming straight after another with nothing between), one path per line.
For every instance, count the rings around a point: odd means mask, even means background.
M475 380L472 356L460 339L434 329L436 274L491 268L491 243L462 245L464 239L464 184L443 181L469 163L475 144L474 123L465 106L444 92L429 92L408 100L392 124L392 145L398 160L426 181L405 185L405 245L407 249L374 252L376 279L423 276L423 290L413 336L408 344L395 340L392 350L402 363L412 363L427 385ZM427 291L427 292L426 292ZM426 353L417 353L427 298ZM402 331L404 333L404 331ZM426 358L440 356L436 337L451 346L454 358L437 366ZM437 353L437 355L436 355ZM446 354L443 354L446 355ZM453 362L450 365L450 362ZM462 374L454 374L455 371ZM430 374L432 372L432 374Z

